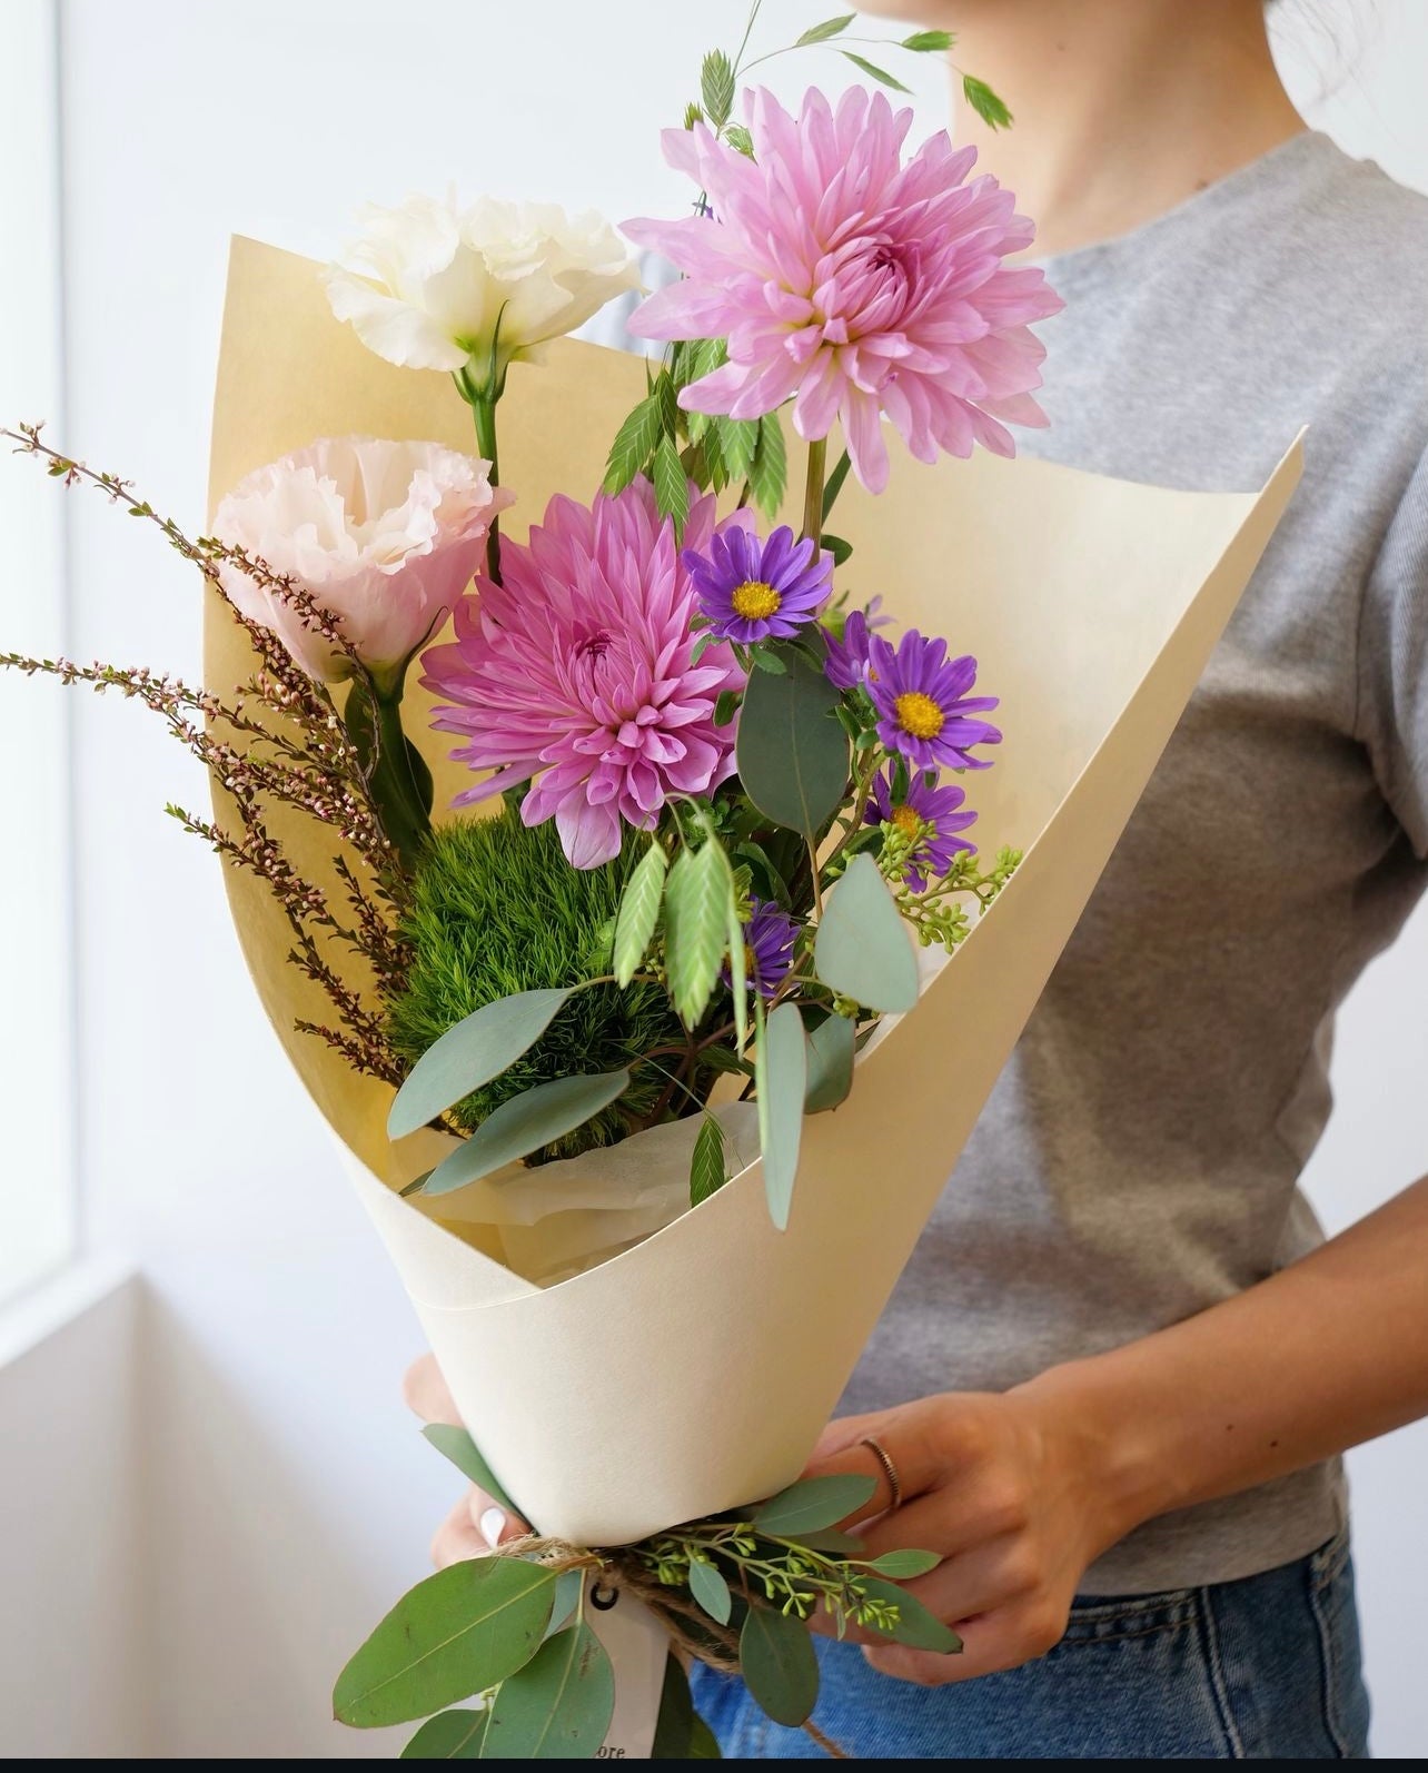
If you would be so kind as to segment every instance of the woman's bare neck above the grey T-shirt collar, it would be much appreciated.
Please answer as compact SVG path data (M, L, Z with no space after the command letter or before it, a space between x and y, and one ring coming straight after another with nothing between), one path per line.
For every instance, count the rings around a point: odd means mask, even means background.
M953 11L953 9L950 9ZM957 137L1036 222L1036 254L1113 239L1304 129L1258 0L960 0L958 69L1017 119L960 101Z

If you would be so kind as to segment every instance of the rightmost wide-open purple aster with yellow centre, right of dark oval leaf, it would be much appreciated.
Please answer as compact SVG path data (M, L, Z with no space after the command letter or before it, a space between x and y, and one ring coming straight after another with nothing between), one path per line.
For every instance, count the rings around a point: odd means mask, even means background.
M877 709L877 736L914 769L987 769L990 757L973 757L973 745L997 745L1001 732L978 720L997 706L994 695L967 695L976 660L948 658L946 640L927 640L916 628L893 647L868 638L868 695Z

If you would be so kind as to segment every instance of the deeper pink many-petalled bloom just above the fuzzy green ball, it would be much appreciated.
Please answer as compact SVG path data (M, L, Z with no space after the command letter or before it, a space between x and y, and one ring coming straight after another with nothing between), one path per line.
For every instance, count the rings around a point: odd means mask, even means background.
M684 541L703 550L714 498L695 498ZM482 576L455 608L455 642L423 654L446 699L434 725L459 732L452 757L496 773L470 805L535 777L526 824L555 817L578 869L620 853L622 824L652 830L675 794L707 794L733 773L733 725L714 723L744 676L726 645L693 660L698 599L648 480L586 509L553 498L528 546L501 544L501 580Z

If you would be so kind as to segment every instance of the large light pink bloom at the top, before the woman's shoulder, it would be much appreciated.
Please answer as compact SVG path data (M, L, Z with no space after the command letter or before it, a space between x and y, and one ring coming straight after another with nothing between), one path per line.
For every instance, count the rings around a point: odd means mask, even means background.
M638 220L625 234L684 280L631 319L647 339L728 337L728 363L680 392L696 413L757 418L794 397L794 429L842 420L852 470L881 493L881 415L920 461L1012 456L1003 420L1044 426L1029 390L1045 348L1028 330L1061 309L1033 268L1006 266L1035 229L990 176L966 183L976 149L939 131L902 165L912 112L850 89L797 119L748 94L755 158L703 124L664 131L664 158L709 193L712 215Z

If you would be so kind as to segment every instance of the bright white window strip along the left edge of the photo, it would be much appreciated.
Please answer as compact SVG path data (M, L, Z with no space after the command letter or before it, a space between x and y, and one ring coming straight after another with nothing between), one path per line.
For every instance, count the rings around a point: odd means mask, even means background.
M0 0L0 422L64 438L58 7ZM0 454L0 651L67 633L64 495ZM0 672L0 1307L78 1250L69 695Z

